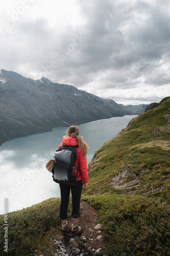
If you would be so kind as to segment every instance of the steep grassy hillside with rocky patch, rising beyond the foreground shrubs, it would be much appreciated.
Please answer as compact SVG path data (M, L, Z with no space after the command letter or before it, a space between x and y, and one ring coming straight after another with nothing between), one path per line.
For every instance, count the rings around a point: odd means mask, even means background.
M162 102L95 152L88 195L123 193L170 203L170 99Z

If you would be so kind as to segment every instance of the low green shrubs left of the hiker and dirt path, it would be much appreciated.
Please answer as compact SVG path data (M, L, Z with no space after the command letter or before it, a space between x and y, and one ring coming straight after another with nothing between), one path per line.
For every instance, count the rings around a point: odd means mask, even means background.
M1 255L28 256L40 237L60 223L60 199L51 198L23 210L8 214L8 254L4 251L4 216L0 216Z

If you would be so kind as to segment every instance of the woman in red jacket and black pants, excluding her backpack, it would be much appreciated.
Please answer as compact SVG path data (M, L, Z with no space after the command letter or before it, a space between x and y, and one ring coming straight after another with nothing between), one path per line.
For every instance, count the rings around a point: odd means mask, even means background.
M82 233L82 229L78 226L78 220L80 217L80 199L82 188L86 188L88 182L87 174L87 144L83 141L83 137L79 136L79 127L76 125L71 125L67 129L67 135L64 136L62 145L66 146L76 146L77 147L77 159L76 167L80 170L81 175L78 175L76 184L72 186L66 186L60 184L61 191L61 205L60 205L60 219L62 225L62 234L66 235L71 230L71 237L78 236ZM67 223L67 208L69 203L69 193L71 189L72 194L72 225Z

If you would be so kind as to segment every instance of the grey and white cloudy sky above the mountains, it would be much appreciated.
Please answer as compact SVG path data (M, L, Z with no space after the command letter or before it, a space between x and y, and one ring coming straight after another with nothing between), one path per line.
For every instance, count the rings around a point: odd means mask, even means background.
M7 0L0 70L123 104L170 96L169 0Z

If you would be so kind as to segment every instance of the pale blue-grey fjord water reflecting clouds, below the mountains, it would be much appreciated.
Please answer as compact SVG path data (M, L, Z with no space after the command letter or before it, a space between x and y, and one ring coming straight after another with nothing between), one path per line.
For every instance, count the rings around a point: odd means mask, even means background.
M104 142L114 138L136 115L113 117L79 125L89 150L88 163ZM0 146L0 214L4 213L4 199L9 212L26 208L51 197L60 197L59 185L45 163L53 159L67 127L7 141ZM88 187L87 187L88 189Z

